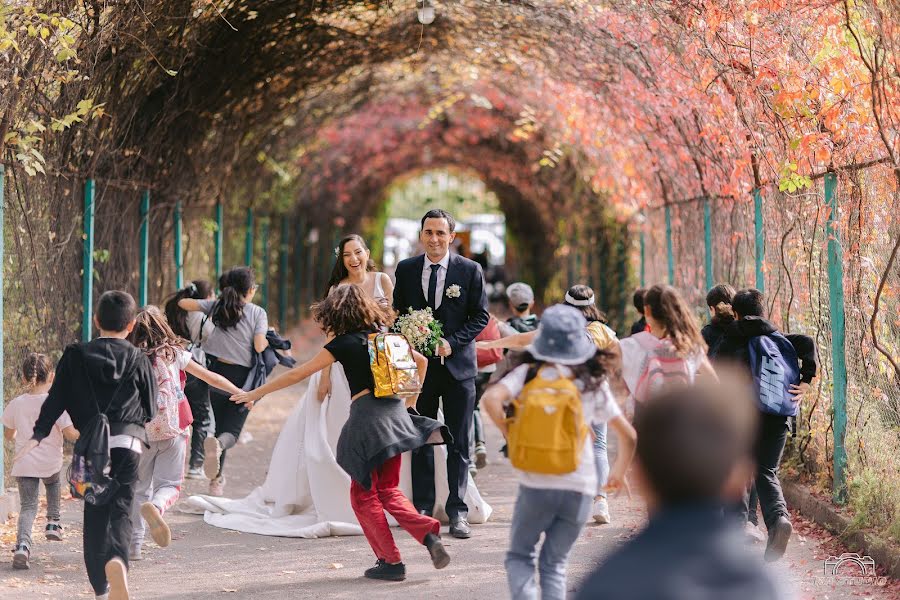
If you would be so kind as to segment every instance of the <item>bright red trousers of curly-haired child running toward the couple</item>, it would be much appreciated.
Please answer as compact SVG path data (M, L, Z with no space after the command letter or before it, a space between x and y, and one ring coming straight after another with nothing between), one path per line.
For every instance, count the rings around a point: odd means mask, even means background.
M363 533L375 552L375 557L390 564L400 562L400 550L388 526L384 511L397 519L420 544L429 533L438 535L441 524L437 519L420 515L412 502L397 487L400 484L400 455L389 458L372 471L372 488L365 489L356 481L350 482L350 505Z

